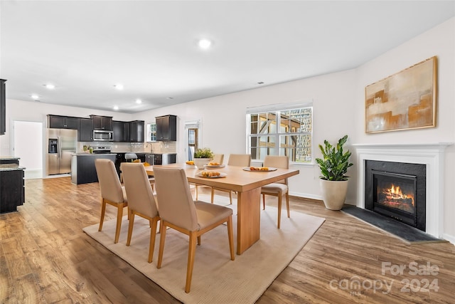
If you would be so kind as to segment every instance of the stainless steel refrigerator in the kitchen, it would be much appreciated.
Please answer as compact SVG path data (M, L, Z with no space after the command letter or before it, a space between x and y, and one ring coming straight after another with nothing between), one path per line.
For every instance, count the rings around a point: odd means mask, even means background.
M71 155L77 150L77 130L48 129L47 174L71 172Z

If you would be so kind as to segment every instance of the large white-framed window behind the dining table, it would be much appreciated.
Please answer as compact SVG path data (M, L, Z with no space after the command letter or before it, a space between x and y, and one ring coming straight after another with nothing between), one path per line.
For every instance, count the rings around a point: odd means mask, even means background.
M311 164L312 104L277 110L274 107L247 111L248 150L254 160L266 155L287 155L291 162Z

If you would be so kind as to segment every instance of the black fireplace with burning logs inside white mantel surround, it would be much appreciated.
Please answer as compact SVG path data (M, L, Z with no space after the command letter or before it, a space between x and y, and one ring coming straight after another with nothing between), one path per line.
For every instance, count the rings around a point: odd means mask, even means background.
M426 165L365 161L365 209L426 228Z

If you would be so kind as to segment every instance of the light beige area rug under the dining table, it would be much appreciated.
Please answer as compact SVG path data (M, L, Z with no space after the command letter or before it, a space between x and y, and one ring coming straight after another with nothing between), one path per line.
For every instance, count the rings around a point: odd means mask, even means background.
M234 240L237 217L232 216ZM191 292L185 293L188 236L168 229L161 268L156 268L159 236L152 263L149 252L149 222L135 217L131 246L126 246L128 221L124 216L119 242L114 244L115 219L106 221L103 230L98 224L83 230L113 253L144 273L183 303L255 303L275 278L301 251L325 219L291 211L291 219L283 210L281 229L277 229L277 208L261 210L261 239L242 255L230 261L228 228L218 226L204 234L196 247Z

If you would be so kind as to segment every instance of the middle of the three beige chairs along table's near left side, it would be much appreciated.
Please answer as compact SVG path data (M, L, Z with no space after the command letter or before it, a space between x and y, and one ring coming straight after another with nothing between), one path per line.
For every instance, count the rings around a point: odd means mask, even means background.
M129 225L127 246L131 243L134 227L134 216L138 215L148 219L150 223L150 244L149 244L149 263L151 263L156 239L156 224L159 221L158 207L154 199L154 193L151 190L149 177L145 167L141 163L124 163L124 187L129 198L128 212Z

